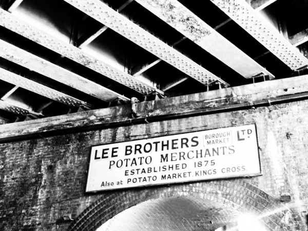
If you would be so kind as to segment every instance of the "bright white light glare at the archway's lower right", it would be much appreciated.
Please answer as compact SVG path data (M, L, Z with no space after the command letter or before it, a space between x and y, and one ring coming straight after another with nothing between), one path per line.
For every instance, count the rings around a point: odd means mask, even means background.
M238 220L239 231L266 231L267 229L260 223L258 217L252 215L242 215Z

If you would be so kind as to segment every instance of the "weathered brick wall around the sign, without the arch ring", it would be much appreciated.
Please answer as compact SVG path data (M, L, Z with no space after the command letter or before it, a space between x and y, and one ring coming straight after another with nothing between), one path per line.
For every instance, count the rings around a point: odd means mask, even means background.
M187 110L188 106L188 110L209 107L199 98L200 94L196 94L190 98L145 102L137 110L139 115L144 115L159 114L163 110L175 111L171 105L178 105L177 108L183 110ZM239 103L238 98L232 102ZM104 192L85 194L92 145L253 123L257 126L263 176L244 181L274 198L280 198L283 192L291 194L293 202L297 204L294 209L301 214L301 211L307 210L308 199L306 108L308 100L301 100L138 125L114 125L106 129L91 127L89 131L53 134L49 137L42 132L38 138L2 143L0 230L65 230L69 222L63 221L63 216L71 214L75 218L101 198ZM128 119L129 106L106 110L108 119L97 118L97 114L91 116L96 121L101 120L101 123ZM90 118L91 113L96 112L83 112L83 115ZM73 123L71 126L74 126ZM58 128L61 130L60 125ZM295 216L294 219L298 226L290 230L307 230L304 217Z

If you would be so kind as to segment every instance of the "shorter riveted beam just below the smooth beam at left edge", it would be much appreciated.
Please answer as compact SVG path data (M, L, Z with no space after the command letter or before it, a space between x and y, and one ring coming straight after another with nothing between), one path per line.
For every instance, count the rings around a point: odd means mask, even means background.
M63 104L66 104L72 107L80 107L80 106L86 106L90 108L93 107L92 105L87 104L86 102L70 97L67 94L64 94L60 91L46 87L32 80L26 79L18 74L14 74L3 68L0 68L0 80L3 80L7 83L10 83L15 86L32 91L36 94L43 95L46 98L49 98L51 100L54 100L54 101L57 101L57 102L60 102L60 103L63 103Z

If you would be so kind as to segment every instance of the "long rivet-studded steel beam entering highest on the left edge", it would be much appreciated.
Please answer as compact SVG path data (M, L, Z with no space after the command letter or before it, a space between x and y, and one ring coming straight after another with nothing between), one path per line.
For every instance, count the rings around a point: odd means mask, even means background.
M87 68L94 70L137 92L149 94L150 92L157 91L164 94L164 92L149 86L136 78L133 78L131 75L112 67L111 65L95 58L77 47L53 37L52 35L20 20L2 9L0 9L0 26L29 38L29 40L59 53L76 63L84 65Z

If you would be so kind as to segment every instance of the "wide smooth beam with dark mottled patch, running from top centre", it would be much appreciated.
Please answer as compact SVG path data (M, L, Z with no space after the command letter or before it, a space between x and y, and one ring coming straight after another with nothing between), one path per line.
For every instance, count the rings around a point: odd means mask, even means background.
M135 0L245 78L274 75L175 0Z

